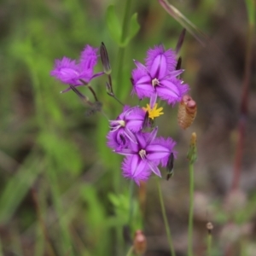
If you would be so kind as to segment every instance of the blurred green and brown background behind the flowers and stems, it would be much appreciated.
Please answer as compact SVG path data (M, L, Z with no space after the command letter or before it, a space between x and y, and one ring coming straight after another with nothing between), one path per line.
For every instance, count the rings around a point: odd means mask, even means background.
M130 183L121 176L122 157L106 146L108 120L100 113L86 117L87 108L79 97L72 91L60 94L66 86L49 72L55 59L64 55L77 59L85 44L99 47L104 42L113 67L113 89L123 102L135 104L137 99L131 98L132 60L143 61L155 44L175 48L183 26L158 1L131 1L130 15L137 13L140 30L125 48L120 64L120 49L106 21L110 4L115 5L122 24L125 1L0 2L0 255L125 255L131 244L123 236L129 218ZM177 141L174 177L161 182L177 256L186 255L187 247L186 152L192 131L197 132L199 151L195 255L206 255L205 225L212 221L216 227L212 255L253 256L255 50L241 189L236 195L228 193L247 47L246 5L240 0L172 4L210 38L204 38L203 47L187 33L181 50L186 70L183 79L198 103L195 124L181 131L177 108L171 106L165 107L165 115L159 119L160 134ZM97 71L101 68L98 65ZM106 94L106 80L95 79L92 86L103 111L113 119L121 107ZM90 96L85 89L80 90ZM170 255L154 178L136 188L134 195L130 236L144 230L148 239L145 255Z

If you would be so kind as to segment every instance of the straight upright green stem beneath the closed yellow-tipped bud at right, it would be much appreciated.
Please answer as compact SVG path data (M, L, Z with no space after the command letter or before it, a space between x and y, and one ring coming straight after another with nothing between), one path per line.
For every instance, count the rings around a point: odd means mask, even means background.
M188 256L193 255L194 165L189 162L189 237Z

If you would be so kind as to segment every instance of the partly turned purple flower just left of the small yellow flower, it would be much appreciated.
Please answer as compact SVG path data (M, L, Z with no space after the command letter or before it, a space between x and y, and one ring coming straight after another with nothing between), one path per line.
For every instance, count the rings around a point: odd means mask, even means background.
M108 147L113 149L127 148L132 141L136 143L135 132L142 130L146 113L142 108L125 106L119 117L110 121Z

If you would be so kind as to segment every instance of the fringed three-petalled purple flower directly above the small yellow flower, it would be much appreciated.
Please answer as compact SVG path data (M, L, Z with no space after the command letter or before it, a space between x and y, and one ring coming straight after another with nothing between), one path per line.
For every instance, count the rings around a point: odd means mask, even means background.
M150 97L150 106L153 107L157 96L168 104L180 102L182 96L189 90L187 84L177 79L183 70L176 70L177 60L172 49L165 50L162 45L148 49L146 66L135 61L137 66L132 71L133 93L142 99Z

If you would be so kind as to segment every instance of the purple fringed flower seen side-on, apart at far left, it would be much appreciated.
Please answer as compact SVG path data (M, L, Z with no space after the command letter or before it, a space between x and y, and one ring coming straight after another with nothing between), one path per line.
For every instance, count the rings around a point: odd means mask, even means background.
M79 63L67 57L56 60L55 67L50 72L50 75L55 77L55 79L61 80L63 84L73 84L74 86L88 84L91 79L103 74L94 74L93 71L97 63L97 50L90 45L86 45L81 52ZM67 88L67 90L71 89ZM62 92L66 92L67 90L63 90Z

